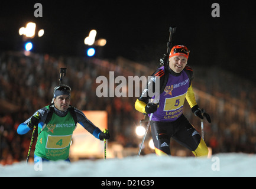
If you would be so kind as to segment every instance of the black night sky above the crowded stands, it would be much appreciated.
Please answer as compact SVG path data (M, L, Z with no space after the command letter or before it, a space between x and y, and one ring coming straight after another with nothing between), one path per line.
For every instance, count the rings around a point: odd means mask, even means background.
M43 18L34 17L34 4ZM213 18L218 2L221 17ZM1 2L0 50L20 50L18 30L28 21L45 34L34 38L35 53L84 55L89 31L105 38L101 57L123 56L156 62L166 53L168 28L177 26L173 45L190 48L189 63L220 66L255 80L256 23L254 1L15 1Z

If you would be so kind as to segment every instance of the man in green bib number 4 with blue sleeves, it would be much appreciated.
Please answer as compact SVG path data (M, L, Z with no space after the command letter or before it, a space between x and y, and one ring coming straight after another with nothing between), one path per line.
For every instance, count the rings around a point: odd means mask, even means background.
M33 129L34 125L38 125L34 158L40 157L43 161L69 161L70 142L77 122L95 138L102 141L109 139L108 132L103 133L86 118L83 112L70 106L70 92L69 86L55 87L53 103L37 110L33 116L18 126L18 134L24 135Z

